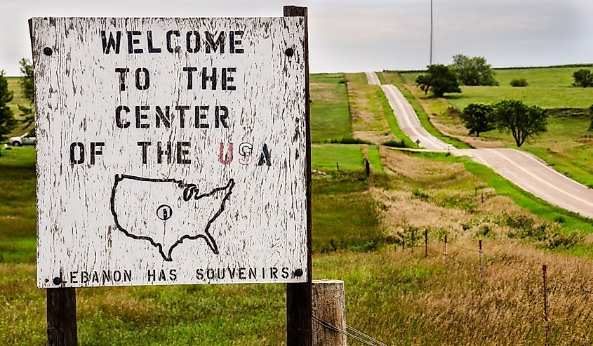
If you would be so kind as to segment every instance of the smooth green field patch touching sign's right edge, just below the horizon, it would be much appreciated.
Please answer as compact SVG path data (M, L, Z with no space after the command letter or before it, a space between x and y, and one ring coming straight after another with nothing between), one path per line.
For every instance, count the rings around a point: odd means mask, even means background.
M312 74L311 140L352 137L344 74Z

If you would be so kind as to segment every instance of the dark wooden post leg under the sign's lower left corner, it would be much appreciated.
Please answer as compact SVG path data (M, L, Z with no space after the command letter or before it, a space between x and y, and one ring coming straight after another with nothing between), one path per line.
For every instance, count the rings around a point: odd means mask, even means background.
M57 280L59 278L56 278ZM76 289L46 288L47 343L49 346L78 345Z

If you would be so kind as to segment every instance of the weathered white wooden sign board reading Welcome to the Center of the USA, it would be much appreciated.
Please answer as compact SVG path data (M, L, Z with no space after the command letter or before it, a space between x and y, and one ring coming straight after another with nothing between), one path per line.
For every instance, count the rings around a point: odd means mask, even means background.
M307 281L304 18L34 18L40 288Z

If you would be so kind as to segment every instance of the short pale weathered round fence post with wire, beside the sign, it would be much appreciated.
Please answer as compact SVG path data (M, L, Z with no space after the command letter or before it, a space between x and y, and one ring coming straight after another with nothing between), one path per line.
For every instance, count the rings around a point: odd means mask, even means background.
M346 330L344 281L313 281L313 316L341 331ZM345 346L346 335L316 322L313 324L313 345Z

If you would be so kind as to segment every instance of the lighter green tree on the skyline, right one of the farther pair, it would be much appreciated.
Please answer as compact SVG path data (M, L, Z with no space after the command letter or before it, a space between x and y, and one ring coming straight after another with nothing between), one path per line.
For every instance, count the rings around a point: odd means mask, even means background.
M494 72L486 58L477 56L469 58L465 55L453 55L453 65L459 80L466 86L498 86Z

